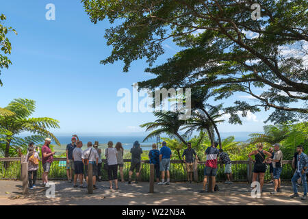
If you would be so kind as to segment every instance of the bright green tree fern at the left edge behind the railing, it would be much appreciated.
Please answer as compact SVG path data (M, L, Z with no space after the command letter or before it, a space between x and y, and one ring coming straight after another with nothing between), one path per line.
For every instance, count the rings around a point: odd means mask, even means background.
M4 135L2 133L3 136L1 137L2 140L0 143L4 149L5 157L9 157L11 154L14 155L18 149L16 146L23 146L24 150L24 147L30 141L41 142L45 137L55 140L55 143L60 145L57 138L48 130L60 128L58 125L59 121L48 117L29 118L36 109L35 101L14 99L4 109L13 113L10 115L0 115L0 127L4 133ZM34 136L27 138L18 137L19 134L25 131L32 133ZM13 145L12 148L11 144Z

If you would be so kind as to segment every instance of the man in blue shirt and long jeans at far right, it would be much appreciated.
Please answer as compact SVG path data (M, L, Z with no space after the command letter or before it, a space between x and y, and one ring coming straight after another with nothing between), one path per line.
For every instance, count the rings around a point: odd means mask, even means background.
M307 198L307 168L308 168L308 157L305 153L303 153L304 148L303 145L298 145L296 148L296 151L298 152L297 156L297 167L296 167L296 172L294 173L294 176L292 178L292 186L293 186L293 191L294 194L290 196L291 198L298 197L297 193L297 180L298 178L302 178L302 183L303 183L303 188L304 188L304 196L302 200L306 200Z

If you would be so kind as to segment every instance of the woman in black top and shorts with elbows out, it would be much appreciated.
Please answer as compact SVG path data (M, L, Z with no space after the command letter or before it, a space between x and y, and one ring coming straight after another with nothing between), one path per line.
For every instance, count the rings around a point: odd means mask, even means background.
M255 155L255 159L251 158L252 155ZM255 163L253 167L253 182L257 181L257 177L259 176L260 182L260 192L262 192L263 184L264 184L264 174L266 172L266 155L268 157L272 156L268 151L263 150L263 144L257 144L257 150L251 152L248 157Z

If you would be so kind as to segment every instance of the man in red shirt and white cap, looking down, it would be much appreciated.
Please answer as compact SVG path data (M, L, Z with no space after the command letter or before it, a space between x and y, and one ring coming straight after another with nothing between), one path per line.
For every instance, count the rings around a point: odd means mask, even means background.
M48 183L48 173L50 170L51 163L53 162L53 155L55 152L52 152L49 144L51 144L51 139L46 138L44 145L42 146L42 167L43 167L43 174L42 174L42 182L45 186Z

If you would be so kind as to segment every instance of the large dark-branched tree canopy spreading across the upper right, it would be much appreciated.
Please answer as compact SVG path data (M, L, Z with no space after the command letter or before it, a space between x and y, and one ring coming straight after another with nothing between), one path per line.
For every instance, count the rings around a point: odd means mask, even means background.
M216 99L244 92L258 102L235 101L229 112L272 108L270 121L307 119L307 1L82 2L93 23L105 18L120 22L106 30L113 50L102 64L123 60L128 71L134 60L147 59L146 71L156 77L142 81L140 88L205 86L214 89ZM261 18L253 20L256 2ZM169 38L183 49L153 68Z

